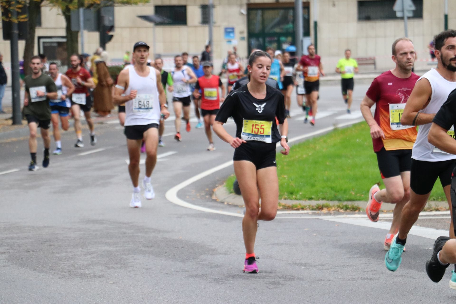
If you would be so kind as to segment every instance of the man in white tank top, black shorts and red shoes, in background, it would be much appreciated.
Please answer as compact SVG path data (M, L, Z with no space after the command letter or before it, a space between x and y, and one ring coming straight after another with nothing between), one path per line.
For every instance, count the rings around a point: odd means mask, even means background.
M176 68L171 72L172 80L174 83L174 91L172 93L173 109L176 119L174 125L176 127L176 135L174 139L181 141L181 115L182 109L184 111L184 120L187 122L186 130L190 132L190 103L192 99L192 90L190 83L197 82L197 77L192 69L183 65L183 60L180 55L174 57L174 64Z

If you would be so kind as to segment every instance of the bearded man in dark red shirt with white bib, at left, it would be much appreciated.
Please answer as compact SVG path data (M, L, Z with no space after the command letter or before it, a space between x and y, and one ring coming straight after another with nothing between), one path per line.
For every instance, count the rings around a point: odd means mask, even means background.
M83 148L83 132L81 128L81 120L79 118L79 113L81 110L84 111L84 116L86 118L88 128L90 129L90 144L95 145L97 139L93 133L93 121L90 116L90 108L92 108L92 97L88 93L89 88L95 88L93 79L90 76L90 73L83 67L81 67L81 61L77 54L73 54L70 57L71 69L69 69L65 75L73 82L74 92L71 94L71 111L73 112L74 118L74 130L76 131L76 136L78 141L74 144L77 148Z

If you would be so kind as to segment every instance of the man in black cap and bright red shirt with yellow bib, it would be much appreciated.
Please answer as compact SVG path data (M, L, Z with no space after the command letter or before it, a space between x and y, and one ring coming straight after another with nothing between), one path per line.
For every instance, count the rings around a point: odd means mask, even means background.
M209 147L207 147L207 150L213 151L215 150L215 147L214 142L212 141L211 126L214 124L215 116L220 108L220 102L225 100L225 87L223 87L220 77L212 75L211 62L203 62L202 70L204 76L198 78L195 91L193 91L193 96L197 99L201 97L201 114L204 118L206 136L209 140ZM218 88L222 88L222 97L220 97ZM199 93L199 89L201 89L201 93Z

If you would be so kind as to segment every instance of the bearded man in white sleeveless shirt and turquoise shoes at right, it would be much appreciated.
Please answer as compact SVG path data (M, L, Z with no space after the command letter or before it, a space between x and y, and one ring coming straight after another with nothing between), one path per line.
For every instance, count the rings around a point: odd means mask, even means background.
M434 41L437 68L432 68L418 79L401 118L401 124L419 125L420 128L412 150L410 201L402 210L399 232L385 255L386 268L391 271L396 271L402 261L407 234L424 209L437 178L451 210L451 173L456 156L435 148L429 143L428 134L435 114L451 91L456 89L455 31L441 32ZM450 237L455 237L452 221Z

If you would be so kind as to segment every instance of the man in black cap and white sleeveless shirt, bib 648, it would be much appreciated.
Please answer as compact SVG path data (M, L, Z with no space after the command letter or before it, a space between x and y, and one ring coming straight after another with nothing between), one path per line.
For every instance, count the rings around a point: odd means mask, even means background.
M154 189L150 184L150 175L157 162L158 127L160 116L164 116L165 119L169 116L160 72L147 66L148 57L149 46L142 41L136 42L133 46L135 65L120 72L113 98L116 105L125 103L124 134L127 137L130 156L128 171L133 183L130 201L132 208L141 207L139 175L142 139L145 141L147 154L145 177L142 181L144 196L148 200L155 197Z

